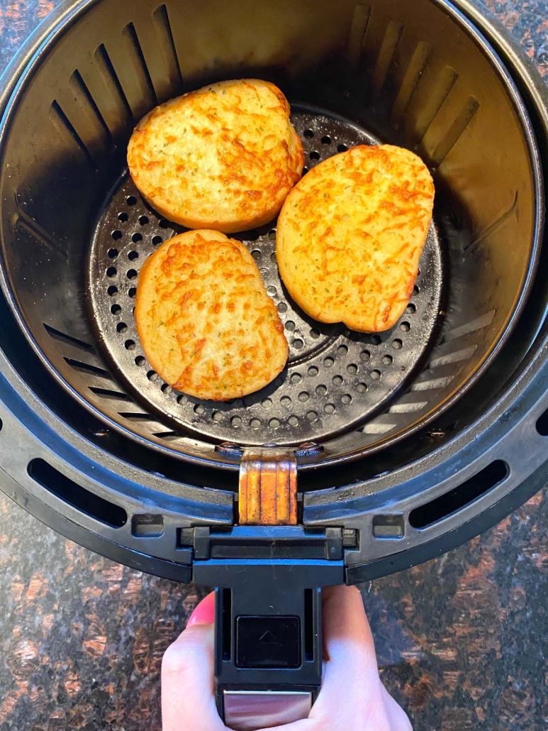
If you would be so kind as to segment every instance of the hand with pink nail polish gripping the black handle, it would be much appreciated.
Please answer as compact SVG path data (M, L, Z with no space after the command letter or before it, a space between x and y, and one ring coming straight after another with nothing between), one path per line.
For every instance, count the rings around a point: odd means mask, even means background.
M373 637L356 588L324 589L324 676L308 719L268 731L412 731L378 677ZM227 731L213 695L214 595L194 610L161 665L162 731Z

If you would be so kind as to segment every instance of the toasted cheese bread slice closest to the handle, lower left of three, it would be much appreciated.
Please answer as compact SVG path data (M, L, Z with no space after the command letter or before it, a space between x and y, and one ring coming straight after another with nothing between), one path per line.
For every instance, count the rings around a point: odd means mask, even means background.
M154 370L197 398L244 396L286 365L283 325L253 257L217 231L180 234L148 257L135 320Z

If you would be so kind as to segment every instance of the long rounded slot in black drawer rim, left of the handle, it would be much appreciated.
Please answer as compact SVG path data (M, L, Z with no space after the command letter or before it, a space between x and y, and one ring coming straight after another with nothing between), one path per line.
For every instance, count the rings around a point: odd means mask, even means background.
M99 520L111 528L121 528L127 522L127 513L123 508L70 480L62 472L52 467L43 459L34 459L28 463L29 476L42 488L64 500L76 510L84 512L95 520Z

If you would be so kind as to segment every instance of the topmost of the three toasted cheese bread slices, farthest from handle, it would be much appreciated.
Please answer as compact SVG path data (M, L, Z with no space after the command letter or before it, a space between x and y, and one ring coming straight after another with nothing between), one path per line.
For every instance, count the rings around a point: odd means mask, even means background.
M225 233L271 221L304 153L274 84L221 81L149 112L128 147L129 172L162 216Z

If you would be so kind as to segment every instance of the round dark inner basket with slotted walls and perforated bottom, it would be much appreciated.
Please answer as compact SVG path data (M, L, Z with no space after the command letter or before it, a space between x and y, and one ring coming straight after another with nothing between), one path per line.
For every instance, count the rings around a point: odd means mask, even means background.
M320 462L362 452L463 393L517 316L539 227L535 146L495 56L430 2L137 8L91 8L6 121L7 297L47 366L127 431L218 461L213 445L226 441L321 442ZM142 355L138 270L174 229L127 181L123 159L157 102L246 75L272 78L294 102L309 165L363 141L400 143L430 164L438 201L415 297L380 336L305 317L278 278L275 224L244 232L291 354L273 385L219 405L172 392Z

